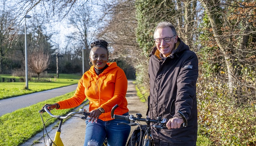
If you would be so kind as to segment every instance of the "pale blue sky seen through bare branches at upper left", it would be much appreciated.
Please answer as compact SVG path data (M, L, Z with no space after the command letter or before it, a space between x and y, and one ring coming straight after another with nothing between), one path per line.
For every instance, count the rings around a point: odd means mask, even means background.
M37 2L38 0L34 0L33 3ZM78 2L76 3L77 5L80 5L82 3L84 3L84 0L77 0ZM108 1L110 1L110 3L112 3L112 0L104 0L103 3L107 3ZM19 2L19 4L17 4ZM15 17L15 21L16 21L16 25L18 25L18 29L19 33L24 33L24 26L25 26L25 19L24 16L26 15L26 11L28 11L29 7L31 7L31 5L33 5L33 3L30 3L31 1L23 1L23 0L0 0L0 10L3 9L3 3L5 3L5 5L8 6L13 6L12 10L11 10L11 14ZM91 0L91 2L96 3L96 5L92 5L91 7L93 7L93 9L96 12L96 14L93 14L94 18L97 19L96 15L101 15L100 10L102 10L102 6L100 6L100 3L102 3L102 1L99 0ZM41 23L43 24L46 29L44 30L44 32L47 34L51 34L52 35L52 45L56 45L59 44L60 48L64 48L67 44L67 35L70 35L71 32L76 31L76 29L70 25L68 25L68 17L72 16L72 11L70 11L68 13L68 15L62 19L62 20L58 20L58 14L53 14L51 10L52 6L48 5L47 3L51 4L52 2L45 2L43 5L42 3L40 3L39 5L37 5L37 7L34 7L32 9L30 9L27 12L27 15L30 15L31 18L26 19L26 26L27 26L27 34L31 33L31 31L33 31L33 28L30 27L31 23L34 23L35 25L37 25L37 23ZM97 5L98 4L98 5ZM23 6L22 6L23 5ZM47 14L46 15L46 10ZM65 9L61 10L63 11L63 14L65 14ZM74 11L76 11L76 9L74 9ZM53 18L51 18L50 16L53 16ZM91 28L91 30L95 29L95 27L97 27L96 25ZM43 33L44 33L43 32Z

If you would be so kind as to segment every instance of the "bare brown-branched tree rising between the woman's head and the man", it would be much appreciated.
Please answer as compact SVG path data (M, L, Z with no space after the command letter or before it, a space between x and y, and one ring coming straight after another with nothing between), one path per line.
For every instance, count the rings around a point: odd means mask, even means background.
M109 60L116 61L127 78L135 78L135 66L143 60L140 58L136 42L135 0L117 0L114 4L105 4L104 22L98 38L109 43ZM110 19L109 19L110 18ZM146 59L145 59L146 60Z

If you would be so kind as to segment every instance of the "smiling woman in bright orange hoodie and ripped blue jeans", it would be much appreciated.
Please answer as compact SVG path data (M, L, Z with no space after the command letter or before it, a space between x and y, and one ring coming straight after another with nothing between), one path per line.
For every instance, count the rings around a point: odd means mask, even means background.
M111 119L111 109L118 104L114 114L128 115L127 78L116 62L108 61L108 43L103 40L91 43L91 68L85 72L78 82L75 94L55 104L45 104L49 108L67 109L80 105L84 99L90 101L90 119L86 120L84 146L101 146L107 138L109 146L125 146L131 127L117 123L126 120ZM43 107L44 108L44 107Z

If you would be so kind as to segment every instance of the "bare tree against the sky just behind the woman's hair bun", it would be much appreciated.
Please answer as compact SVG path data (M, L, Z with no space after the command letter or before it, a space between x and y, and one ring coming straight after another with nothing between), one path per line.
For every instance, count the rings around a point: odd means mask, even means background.
M85 47L85 70L90 68L90 43L95 39L94 36L97 32L97 24L100 21L97 20L97 13L94 11L94 7L96 6L94 6L93 3L86 3L69 17L69 25L71 28L74 28L75 31L68 35L67 39L72 40L72 47L74 47L77 54L82 54L82 48ZM79 56L81 57L82 55ZM82 58L80 58L80 60L82 60Z

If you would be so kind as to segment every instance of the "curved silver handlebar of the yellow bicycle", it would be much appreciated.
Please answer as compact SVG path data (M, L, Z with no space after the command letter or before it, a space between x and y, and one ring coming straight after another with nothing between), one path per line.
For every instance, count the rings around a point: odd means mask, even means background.
M75 115L75 114L83 115L85 118L83 117L82 119L86 119L87 116L90 115L90 112L86 112L84 109L79 109L79 112L70 112L70 113L68 113L67 116L60 116L60 115L56 116L56 115L53 115L47 108L48 108L48 106L46 105L44 107L44 109L40 110L39 112L40 113L47 112L50 116L52 116L54 118L58 118L58 119L67 119L69 116Z

